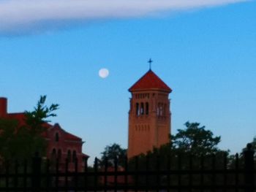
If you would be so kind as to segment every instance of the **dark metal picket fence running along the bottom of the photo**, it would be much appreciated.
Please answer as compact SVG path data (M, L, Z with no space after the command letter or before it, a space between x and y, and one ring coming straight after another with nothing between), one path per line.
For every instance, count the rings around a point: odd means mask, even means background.
M0 169L0 191L256 191L253 151L249 148L233 160L216 155L157 156L118 160L85 166L83 172L70 170L66 161L50 162L39 157L14 164L5 162ZM120 161L119 161L120 162ZM74 166L74 165L73 165Z

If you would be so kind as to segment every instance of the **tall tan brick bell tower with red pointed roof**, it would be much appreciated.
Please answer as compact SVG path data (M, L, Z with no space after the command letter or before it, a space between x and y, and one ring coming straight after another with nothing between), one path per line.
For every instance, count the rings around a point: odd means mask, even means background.
M128 158L169 142L171 91L151 69L129 88Z

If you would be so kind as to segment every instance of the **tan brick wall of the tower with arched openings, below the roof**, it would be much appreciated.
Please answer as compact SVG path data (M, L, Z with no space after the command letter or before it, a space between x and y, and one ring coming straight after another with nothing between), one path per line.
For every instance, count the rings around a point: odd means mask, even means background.
M144 105L143 115L138 114L138 104L142 103ZM148 103L148 111L146 103ZM129 110L128 158L147 153L154 147L166 144L169 142L169 135L170 100L168 93L161 91L132 93Z

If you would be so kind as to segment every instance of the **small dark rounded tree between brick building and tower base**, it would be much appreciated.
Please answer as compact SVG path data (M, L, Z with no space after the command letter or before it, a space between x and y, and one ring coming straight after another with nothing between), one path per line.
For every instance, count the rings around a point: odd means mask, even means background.
M105 147L102 152L101 164L104 165L107 160L108 166L114 166L115 159L117 159L119 165L124 165L126 158L127 150L122 148L121 145L114 143Z

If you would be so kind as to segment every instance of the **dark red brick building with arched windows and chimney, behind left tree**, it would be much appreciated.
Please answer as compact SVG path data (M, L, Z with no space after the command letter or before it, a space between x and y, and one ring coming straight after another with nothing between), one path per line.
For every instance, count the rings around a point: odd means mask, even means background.
M7 112L7 98L0 98L0 118L18 120L20 126L25 124L24 113ZM75 159L78 159L78 170L83 170L83 166L89 158L88 155L82 152L83 140L69 132L65 131L61 126L56 123L51 125L45 123L47 131L42 134L42 137L48 142L47 158L59 158L59 168L64 169L66 159L69 161L69 171L75 169Z

